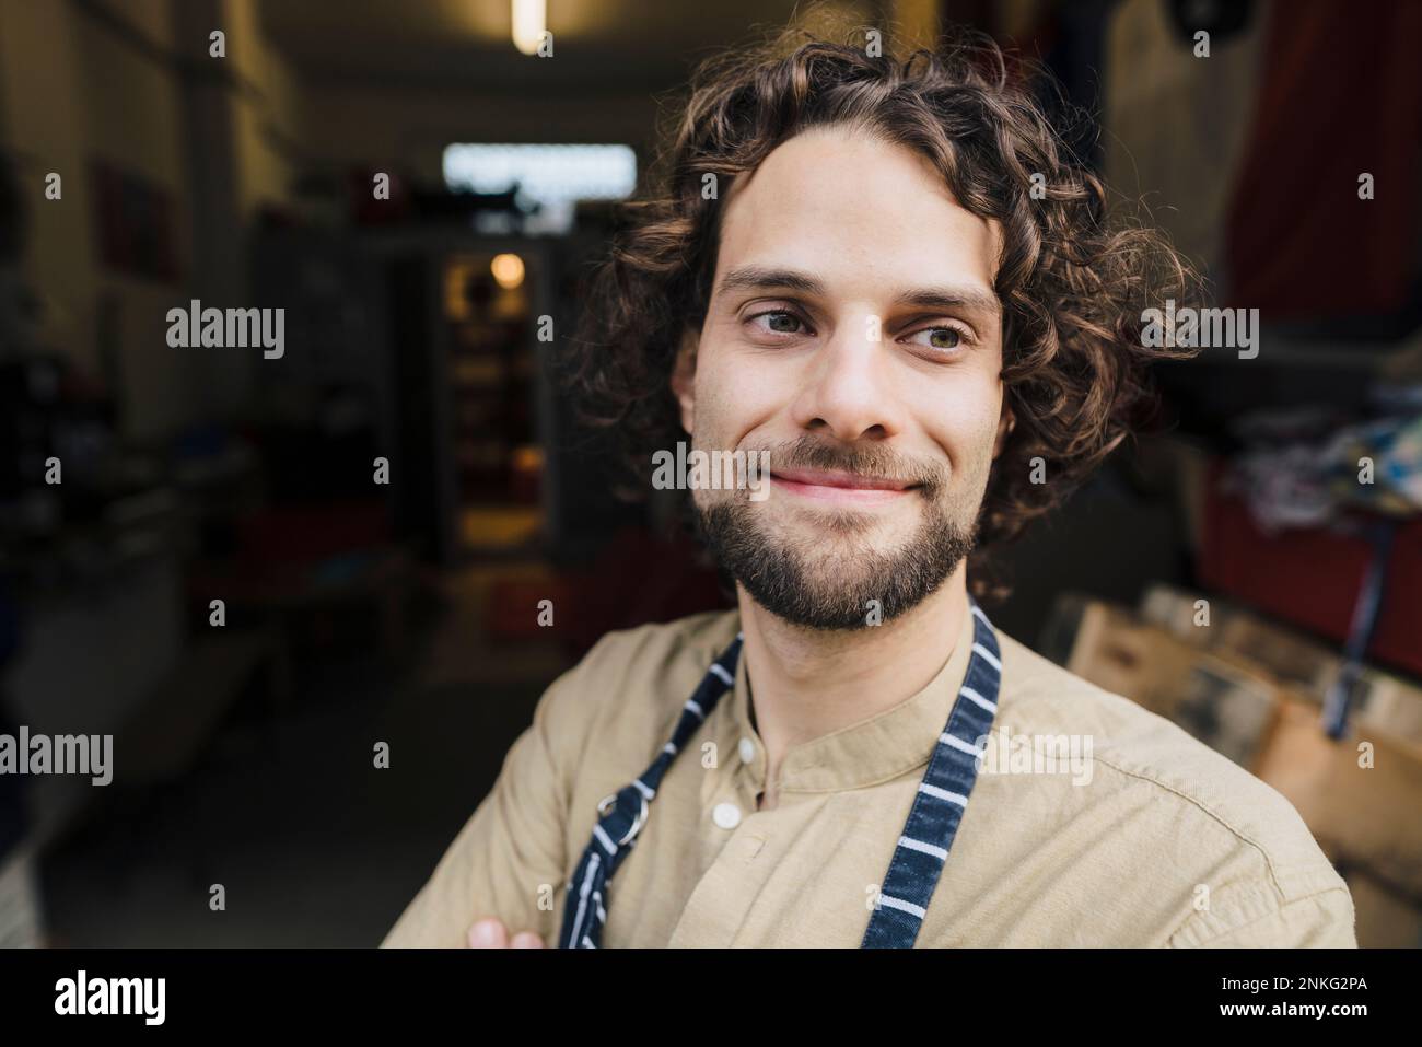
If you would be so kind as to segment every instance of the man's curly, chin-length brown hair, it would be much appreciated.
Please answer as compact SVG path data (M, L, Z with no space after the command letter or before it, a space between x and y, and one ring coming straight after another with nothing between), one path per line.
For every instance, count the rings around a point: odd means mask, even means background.
M721 209L704 199L704 176L724 198L727 179L795 134L845 125L923 154L963 208L1003 228L995 292L1015 425L983 499L978 549L1059 504L1149 417L1148 364L1196 351L1143 347L1140 314L1193 302L1199 280L1156 229L1106 220L1101 181L1027 88L1021 73L1034 68L975 33L903 57L887 43L872 55L862 36L835 44L789 30L701 63L587 287L567 361L584 420L614 427L641 475L653 448L685 438L670 376L684 334L705 320L715 273ZM1031 482L1037 457L1045 484Z

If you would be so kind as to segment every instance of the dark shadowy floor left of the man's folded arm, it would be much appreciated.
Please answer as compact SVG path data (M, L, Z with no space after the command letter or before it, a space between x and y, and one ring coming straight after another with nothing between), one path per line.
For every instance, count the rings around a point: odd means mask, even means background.
M528 576L536 566L502 566ZM441 582L448 607L404 666L367 649L297 666L280 718L247 698L188 778L105 791L41 863L47 939L68 946L373 946L498 775L553 644L482 643L493 572ZM390 743L390 768L373 765ZM209 908L223 885L226 909Z

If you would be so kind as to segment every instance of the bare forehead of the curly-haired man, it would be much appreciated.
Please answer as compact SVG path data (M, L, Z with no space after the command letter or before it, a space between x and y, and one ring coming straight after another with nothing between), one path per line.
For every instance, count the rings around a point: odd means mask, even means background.
M842 127L776 147L727 193L717 279L732 266L803 269L829 290L951 282L991 292L1001 229L964 209L921 154Z

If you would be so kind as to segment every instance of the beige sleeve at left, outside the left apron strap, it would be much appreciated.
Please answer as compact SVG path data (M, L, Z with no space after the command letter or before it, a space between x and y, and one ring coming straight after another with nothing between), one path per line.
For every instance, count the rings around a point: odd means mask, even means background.
M485 916L499 918L510 936L533 930L546 946L556 945L573 772L573 754L560 758L557 743L579 734L560 723L557 710L567 704L572 679L573 671L565 673L539 698L532 726L509 748L493 788L381 942L383 949L465 946L469 928Z

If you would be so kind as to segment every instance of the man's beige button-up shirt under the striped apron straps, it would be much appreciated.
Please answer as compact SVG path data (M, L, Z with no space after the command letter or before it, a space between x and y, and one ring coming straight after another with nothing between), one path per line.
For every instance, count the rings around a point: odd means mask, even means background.
M556 945L597 801L647 768L738 627L732 610L604 636L543 694L383 945L462 946L482 916ZM964 615L951 657L913 697L789 748L768 811L757 809L766 755L742 657L611 881L603 947L857 947L971 630ZM1283 795L1170 721L998 639L991 757L917 946L1357 946L1348 889ZM1089 740L1091 758L1054 765L1059 735L1078 755Z

